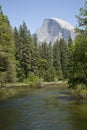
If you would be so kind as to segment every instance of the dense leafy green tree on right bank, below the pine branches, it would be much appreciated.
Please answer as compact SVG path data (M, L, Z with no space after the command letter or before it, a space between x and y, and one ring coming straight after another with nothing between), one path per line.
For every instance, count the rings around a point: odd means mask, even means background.
M83 36L76 38L75 45L69 49L69 84L75 86L76 84L87 84L87 41Z

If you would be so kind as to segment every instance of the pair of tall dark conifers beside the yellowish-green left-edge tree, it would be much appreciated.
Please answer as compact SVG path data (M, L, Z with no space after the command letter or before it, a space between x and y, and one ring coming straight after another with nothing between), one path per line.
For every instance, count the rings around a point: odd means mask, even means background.
M29 71L31 71L31 55L33 53L32 50L32 38L30 31L27 29L26 23L23 22L20 25L19 30L14 29L14 38L15 38L15 46L16 46L16 60L17 60L17 76L19 81L23 81L24 78L27 78ZM22 76L20 75L22 71Z

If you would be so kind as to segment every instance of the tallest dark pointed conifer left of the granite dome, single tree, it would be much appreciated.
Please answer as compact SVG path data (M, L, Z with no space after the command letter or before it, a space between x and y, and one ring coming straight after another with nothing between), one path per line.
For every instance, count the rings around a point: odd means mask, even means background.
M27 29L26 23L19 28L20 36L20 65L24 71L25 78L27 78L29 71L31 71L31 44L32 37L30 31Z

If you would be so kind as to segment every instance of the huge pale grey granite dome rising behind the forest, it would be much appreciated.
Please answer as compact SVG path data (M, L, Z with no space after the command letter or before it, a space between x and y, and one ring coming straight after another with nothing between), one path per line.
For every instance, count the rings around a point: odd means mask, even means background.
M74 27L58 18L45 19L42 26L36 30L36 35L39 42L47 43L53 43L60 38L68 42L69 36L72 40L75 39Z

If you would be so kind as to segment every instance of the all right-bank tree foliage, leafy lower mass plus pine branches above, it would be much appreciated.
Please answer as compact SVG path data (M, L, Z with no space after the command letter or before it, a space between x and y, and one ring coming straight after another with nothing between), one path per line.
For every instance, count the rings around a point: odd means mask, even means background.
M69 84L75 87L78 84L87 86L87 2L80 9L77 16L79 27L76 29L77 37L75 44L69 47Z

